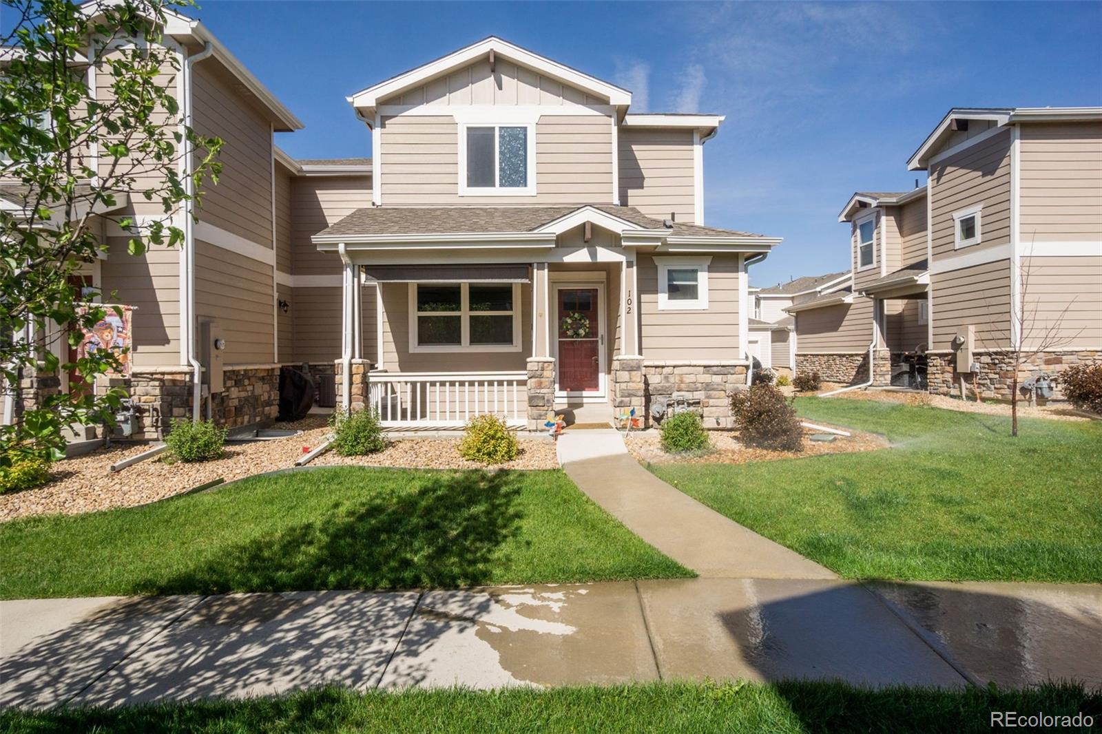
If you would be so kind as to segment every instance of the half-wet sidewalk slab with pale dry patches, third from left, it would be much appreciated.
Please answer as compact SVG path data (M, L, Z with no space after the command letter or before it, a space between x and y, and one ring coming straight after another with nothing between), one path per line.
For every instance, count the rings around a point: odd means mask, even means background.
M429 592L382 686L494 688L657 677L635 584L624 582Z

